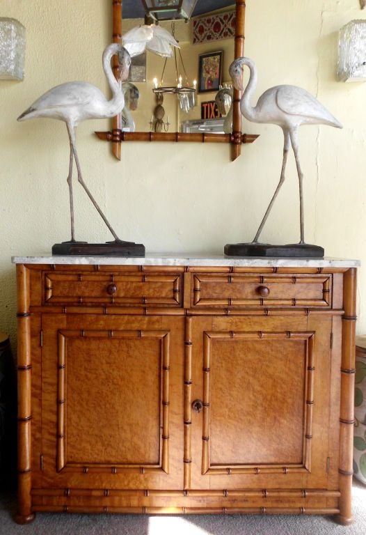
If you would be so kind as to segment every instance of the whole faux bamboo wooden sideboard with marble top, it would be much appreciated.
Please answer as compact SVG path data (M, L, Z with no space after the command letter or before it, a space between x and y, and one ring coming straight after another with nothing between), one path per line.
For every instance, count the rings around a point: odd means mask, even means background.
M19 514L351 515L357 261L14 258Z

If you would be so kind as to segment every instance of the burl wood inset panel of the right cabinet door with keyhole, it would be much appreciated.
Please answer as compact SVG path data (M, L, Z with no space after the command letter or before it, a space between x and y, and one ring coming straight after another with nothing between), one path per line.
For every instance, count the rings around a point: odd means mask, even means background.
M311 384L314 375L307 369L312 357L308 341L313 333L205 332L204 336L203 399L209 403L204 417L211 422L207 470L264 463L303 465L306 383Z

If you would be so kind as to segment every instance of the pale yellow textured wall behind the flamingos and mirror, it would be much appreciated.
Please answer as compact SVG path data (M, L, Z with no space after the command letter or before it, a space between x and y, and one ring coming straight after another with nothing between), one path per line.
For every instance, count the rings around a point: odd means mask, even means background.
M23 82L0 82L0 329L15 334L13 255L49 254L69 239L68 145L65 125L17 116L48 88L74 79L107 91L102 50L111 34L111 0L0 0L0 15L26 26ZM257 63L256 95L276 84L308 89L343 123L303 127L305 238L326 256L360 258L366 265L366 84L335 79L337 31L366 18L358 0L247 0L246 55ZM260 134L230 162L227 146L125 144L122 161L94 130L80 125L78 149L84 179L112 225L148 251L220 253L245 241L262 219L279 178L283 136L276 126L244 123ZM77 239L111 236L80 187L76 189ZM293 158L263 240L299 239L298 185ZM366 276L358 282L358 332L366 332Z

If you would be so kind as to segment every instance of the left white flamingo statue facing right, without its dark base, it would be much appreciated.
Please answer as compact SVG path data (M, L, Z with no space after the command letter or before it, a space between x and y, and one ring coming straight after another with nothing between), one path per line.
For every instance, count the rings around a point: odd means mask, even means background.
M67 133L70 139L70 166L69 174L67 176L67 184L69 187L70 194L70 218L71 218L71 241L75 241L74 237L74 202L72 196L72 164L75 160L77 166L77 175L78 180L83 189L85 189L88 194L90 201L100 213L104 223L109 228L115 238L116 242L122 242L118 238L118 235L109 224L104 213L98 206L93 195L90 193L88 187L83 181L81 176L81 168L79 164L79 157L77 155L76 147L76 130L77 125L81 121L86 119L100 119L100 118L109 118L113 117L120 113L122 108L125 106L125 95L121 91L120 84L117 82L116 78L113 75L111 69L111 58L115 54L118 54L120 65L121 65L121 79L125 80L129 74L129 65L131 64L131 57L129 52L122 47L113 43L106 47L103 52L103 68L108 80L109 87L112 91L111 100L107 100L100 91L99 88L88 84L88 82L67 82L66 84L61 84L56 86L42 97L35 100L31 107L26 109L18 117L18 121L26 121L27 119L38 118L38 117L48 117L59 119L64 121L67 127Z

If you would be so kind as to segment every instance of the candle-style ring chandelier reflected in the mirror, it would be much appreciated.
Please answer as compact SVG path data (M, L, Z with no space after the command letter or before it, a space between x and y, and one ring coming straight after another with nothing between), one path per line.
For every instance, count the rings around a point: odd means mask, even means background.
M175 33L175 27L174 27L174 22L173 22L172 23L173 36L174 36L174 33ZM178 58L179 58L180 66L182 68L182 73L184 74L184 77L182 76L182 74L179 74L180 68L178 67ZM174 61L175 61L176 84L175 86L164 86L164 74L166 70L167 60L168 58L166 58L164 61L164 66L163 66L163 71L161 72L160 82L158 82L157 78L154 78L153 80L154 87L152 88L152 92L155 94L160 94L160 95L177 95L180 109L182 111L188 112L191 108L196 106L197 80L194 79L193 84L189 84L188 76L186 74L186 68L184 67L184 62L182 59L182 54L179 48L178 49L175 48L174 49Z

